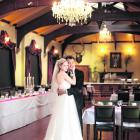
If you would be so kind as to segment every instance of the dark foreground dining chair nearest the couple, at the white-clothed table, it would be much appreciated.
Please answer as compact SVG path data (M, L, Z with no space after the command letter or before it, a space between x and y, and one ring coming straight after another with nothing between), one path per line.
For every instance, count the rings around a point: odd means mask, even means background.
M115 107L112 105L95 105L94 140L98 140L98 132L102 139L102 131L112 131L115 139Z

